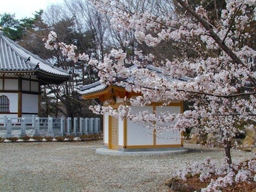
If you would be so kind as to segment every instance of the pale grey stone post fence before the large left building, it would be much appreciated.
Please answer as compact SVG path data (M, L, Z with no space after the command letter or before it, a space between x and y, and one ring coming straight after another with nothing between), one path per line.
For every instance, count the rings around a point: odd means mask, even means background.
M20 117L0 118L0 137L67 136L100 134L100 118Z

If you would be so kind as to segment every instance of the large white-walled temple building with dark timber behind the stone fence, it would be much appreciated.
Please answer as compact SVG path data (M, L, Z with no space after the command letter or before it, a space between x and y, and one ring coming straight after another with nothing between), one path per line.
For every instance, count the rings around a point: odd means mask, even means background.
M0 118L39 116L40 86L60 84L70 76L7 38L0 29Z

